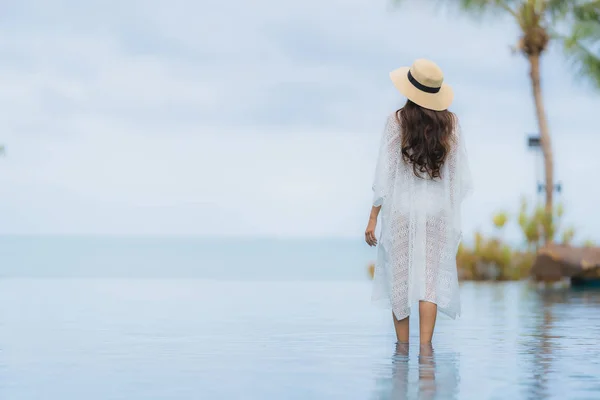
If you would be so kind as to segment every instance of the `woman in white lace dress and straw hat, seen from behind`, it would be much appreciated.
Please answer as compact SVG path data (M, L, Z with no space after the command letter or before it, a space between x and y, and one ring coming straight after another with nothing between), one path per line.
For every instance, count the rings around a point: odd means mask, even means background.
M418 302L420 342L430 344L437 311L460 314L456 251L470 171L441 69L421 59L390 77L408 101L388 117L377 160L365 232L370 246L379 245L373 300L392 309L399 343L408 343L410 309Z

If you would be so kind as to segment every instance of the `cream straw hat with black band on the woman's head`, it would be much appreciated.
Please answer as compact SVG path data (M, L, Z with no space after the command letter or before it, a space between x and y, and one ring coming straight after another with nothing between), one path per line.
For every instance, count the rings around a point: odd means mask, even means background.
M411 67L390 72L396 89L410 101L435 111L450 107L454 99L452 88L444 82L444 74L433 61L419 59Z

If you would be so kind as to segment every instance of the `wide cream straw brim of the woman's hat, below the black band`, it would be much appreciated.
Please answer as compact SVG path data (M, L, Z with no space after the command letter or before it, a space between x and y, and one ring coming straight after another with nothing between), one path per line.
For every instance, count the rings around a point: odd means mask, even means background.
M443 83L437 93L424 92L410 83L409 70L410 67L402 67L390 72L390 79L400 93L413 103L430 110L444 111L450 107L454 100L454 91L450 85Z

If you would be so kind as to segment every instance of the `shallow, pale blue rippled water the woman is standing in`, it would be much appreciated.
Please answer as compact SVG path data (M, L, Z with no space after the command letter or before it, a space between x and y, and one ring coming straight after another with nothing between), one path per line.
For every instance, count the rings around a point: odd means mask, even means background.
M598 291L466 283L462 317L408 351L369 295L368 281L3 279L0 398L600 398Z

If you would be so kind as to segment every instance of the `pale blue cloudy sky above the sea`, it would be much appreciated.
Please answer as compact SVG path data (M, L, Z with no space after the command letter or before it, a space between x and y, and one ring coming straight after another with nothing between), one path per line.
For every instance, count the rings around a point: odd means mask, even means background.
M465 233L541 200L509 19L414 0L21 0L0 30L2 234L360 237L383 124L405 101L388 73L422 57L455 90ZM600 241L600 92L572 75L552 48L559 201Z

